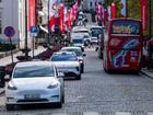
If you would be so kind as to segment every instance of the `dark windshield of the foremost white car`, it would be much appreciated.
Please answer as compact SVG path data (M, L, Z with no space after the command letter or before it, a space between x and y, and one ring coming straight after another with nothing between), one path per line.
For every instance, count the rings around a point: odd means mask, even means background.
M26 66L16 67L13 78L34 78L34 77L54 77L55 71L51 66Z

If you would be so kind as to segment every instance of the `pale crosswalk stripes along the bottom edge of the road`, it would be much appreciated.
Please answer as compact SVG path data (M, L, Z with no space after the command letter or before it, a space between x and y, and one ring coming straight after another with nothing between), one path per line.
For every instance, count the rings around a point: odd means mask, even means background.
M80 114L54 113L51 115L153 115L153 112L83 112Z

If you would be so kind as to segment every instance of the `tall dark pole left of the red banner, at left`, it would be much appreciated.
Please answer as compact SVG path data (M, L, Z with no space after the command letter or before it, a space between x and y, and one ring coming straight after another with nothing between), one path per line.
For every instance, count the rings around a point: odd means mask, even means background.
M25 58L28 59L28 48L27 48L27 0L25 0Z

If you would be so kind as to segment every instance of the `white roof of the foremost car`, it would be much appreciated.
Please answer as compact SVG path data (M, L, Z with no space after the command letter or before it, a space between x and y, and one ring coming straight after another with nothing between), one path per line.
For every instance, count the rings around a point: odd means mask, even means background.
M52 62L50 62L50 61L24 61L24 62L17 62L16 65L15 65L15 67L26 67L26 66L52 66Z

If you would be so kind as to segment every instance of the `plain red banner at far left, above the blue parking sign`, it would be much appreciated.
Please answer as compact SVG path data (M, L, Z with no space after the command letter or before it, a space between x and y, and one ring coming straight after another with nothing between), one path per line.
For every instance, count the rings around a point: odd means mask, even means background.
M31 31L32 26L36 26L35 7L35 0L28 0L28 31Z

